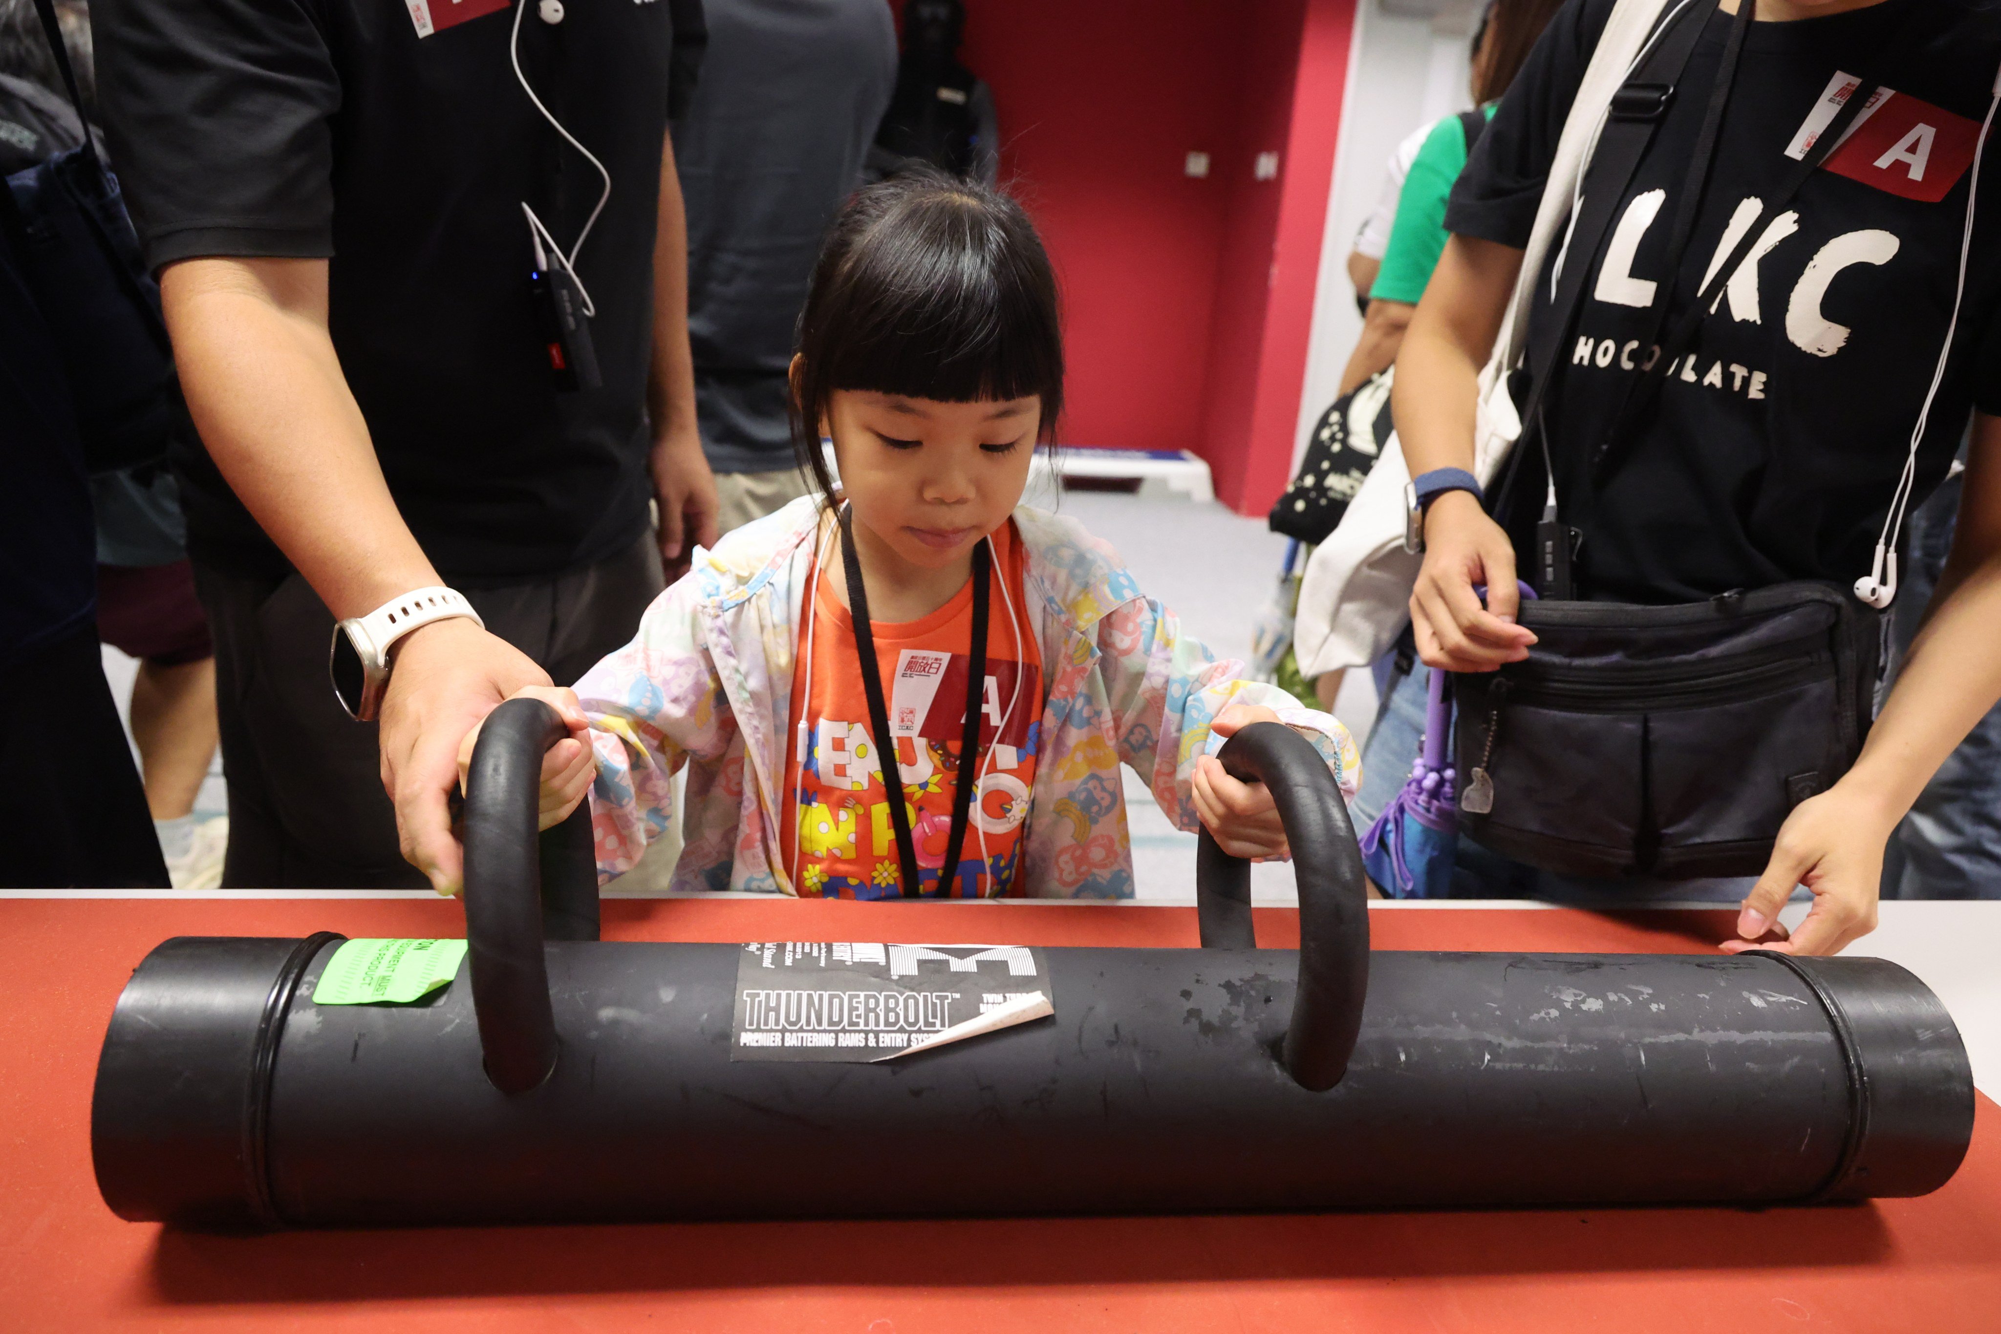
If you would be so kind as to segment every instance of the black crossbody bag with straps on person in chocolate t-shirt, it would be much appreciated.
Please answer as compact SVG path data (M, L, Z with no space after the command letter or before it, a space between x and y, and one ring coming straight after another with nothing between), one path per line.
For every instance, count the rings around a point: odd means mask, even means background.
M1667 272L1681 272L1751 10L1741 4L1731 26L1675 214ZM1613 100L1557 290L1565 318L1531 348L1525 438L1497 494L1523 474L1529 432L1555 478L1541 398L1583 304L1585 276L1709 12L1711 4L1697 0L1671 20ZM1791 202L1873 92L1865 84L1849 96L1761 218ZM1703 312L1759 230L1747 228L1673 324L1663 302L1643 340L1661 352L1653 370L1629 386L1613 430L1593 444L1593 484L1623 462L1629 424L1649 416L1665 376L1691 348ZM1787 582L1677 606L1573 600L1577 534L1557 514L1553 482L1535 546L1541 600L1523 600L1519 620L1539 642L1525 662L1453 678L1461 830L1557 874L1761 874L1793 806L1831 786L1861 754L1873 716L1881 614L1831 582Z

